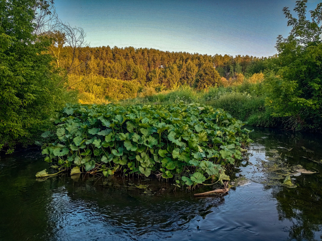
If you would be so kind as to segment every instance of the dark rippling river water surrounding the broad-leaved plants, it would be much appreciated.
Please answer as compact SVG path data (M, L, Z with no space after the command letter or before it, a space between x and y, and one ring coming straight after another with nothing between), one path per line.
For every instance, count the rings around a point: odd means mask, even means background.
M243 185L206 198L159 182L144 193L98 176L39 181L49 166L38 148L2 156L0 240L321 240L322 138L273 129L251 138L233 174ZM282 186L295 165L319 173Z

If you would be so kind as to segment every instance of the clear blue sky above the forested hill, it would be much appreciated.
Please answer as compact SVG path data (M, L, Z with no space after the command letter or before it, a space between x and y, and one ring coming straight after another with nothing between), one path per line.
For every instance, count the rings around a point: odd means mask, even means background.
M308 1L307 10L319 1ZM268 57L290 27L290 0L55 0L62 22L81 27L90 47L153 48L199 54Z

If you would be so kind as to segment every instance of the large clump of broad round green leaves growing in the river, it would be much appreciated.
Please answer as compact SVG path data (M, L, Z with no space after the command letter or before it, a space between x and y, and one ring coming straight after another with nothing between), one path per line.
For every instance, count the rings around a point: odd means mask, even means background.
M243 123L223 110L185 104L133 106L67 105L43 133L45 161L60 170L156 174L195 186L212 177L229 180L225 165L241 159L249 139ZM40 173L41 176L43 173ZM46 173L44 172L44 175Z

